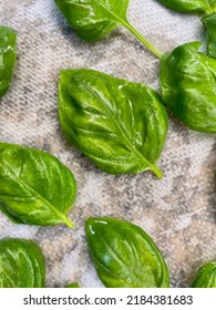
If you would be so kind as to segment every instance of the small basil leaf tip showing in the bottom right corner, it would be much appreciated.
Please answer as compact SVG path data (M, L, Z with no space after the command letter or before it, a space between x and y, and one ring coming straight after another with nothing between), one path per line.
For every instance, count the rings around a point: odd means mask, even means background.
M193 288L216 288L216 261L204 265L192 283Z

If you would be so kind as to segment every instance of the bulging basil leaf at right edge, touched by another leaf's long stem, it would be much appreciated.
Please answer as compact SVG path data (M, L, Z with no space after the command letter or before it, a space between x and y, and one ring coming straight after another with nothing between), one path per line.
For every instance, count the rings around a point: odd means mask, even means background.
M199 42L176 48L162 60L162 96L189 128L216 133L216 60L199 53Z

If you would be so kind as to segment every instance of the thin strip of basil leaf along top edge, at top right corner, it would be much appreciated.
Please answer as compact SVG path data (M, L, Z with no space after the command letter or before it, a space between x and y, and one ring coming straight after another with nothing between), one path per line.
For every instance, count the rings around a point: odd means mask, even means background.
M216 0L158 0L177 12L216 12Z

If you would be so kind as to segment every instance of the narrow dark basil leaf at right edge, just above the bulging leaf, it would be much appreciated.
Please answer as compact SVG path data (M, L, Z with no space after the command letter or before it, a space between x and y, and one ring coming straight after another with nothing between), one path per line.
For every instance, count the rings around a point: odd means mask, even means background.
M202 19L207 28L207 53L216 59L216 13L212 13Z

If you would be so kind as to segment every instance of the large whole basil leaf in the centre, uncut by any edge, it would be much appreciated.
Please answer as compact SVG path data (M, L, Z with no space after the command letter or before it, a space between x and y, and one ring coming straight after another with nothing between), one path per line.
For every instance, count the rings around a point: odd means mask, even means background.
M111 174L138 173L155 166L167 132L160 96L141 83L104 73L63 70L59 115L68 141Z

